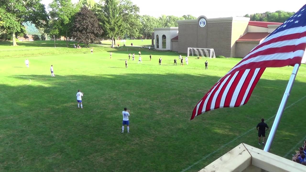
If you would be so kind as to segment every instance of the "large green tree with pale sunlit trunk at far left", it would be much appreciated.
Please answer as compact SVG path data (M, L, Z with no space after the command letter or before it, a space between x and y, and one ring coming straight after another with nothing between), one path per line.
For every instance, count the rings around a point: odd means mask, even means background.
M37 27L48 23L45 6L40 0L5 0L0 1L0 30L12 34L13 45L16 43L16 34L25 32L22 23L30 21Z

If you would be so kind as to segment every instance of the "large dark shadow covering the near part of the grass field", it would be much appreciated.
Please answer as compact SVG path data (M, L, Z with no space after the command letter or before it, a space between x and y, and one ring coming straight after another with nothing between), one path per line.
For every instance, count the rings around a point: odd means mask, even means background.
M219 77L173 73L22 77L16 76L16 81L28 83L29 78L33 84L22 89L0 84L1 93L18 89L0 95L6 100L0 108L4 171L114 171L114 167L181 171L255 127L259 119L274 115L287 84L261 79L247 105L213 110L189 121L196 103ZM294 83L289 101L306 94L304 84ZM76 105L78 89L84 92L82 110ZM120 133L124 107L131 110L129 135ZM296 121L286 121L286 126L295 127ZM247 140L248 135L254 140ZM248 135L217 155L241 142L256 144L256 131ZM283 136L278 133L278 138ZM287 145L286 140L282 144ZM128 166L122 152L129 154ZM25 157L22 165L16 160L20 157Z

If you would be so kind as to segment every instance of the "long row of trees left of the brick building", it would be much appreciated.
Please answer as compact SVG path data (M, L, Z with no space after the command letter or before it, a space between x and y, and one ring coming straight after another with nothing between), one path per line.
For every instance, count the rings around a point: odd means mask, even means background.
M177 27L177 20L196 19L191 15L182 17L166 16L155 18L139 15L139 7L130 0L53 0L47 7L40 0L0 1L0 40L24 36L25 24L35 24L42 33L42 39L50 37L78 42L98 42L111 39L112 45L122 39L151 38L154 28ZM68 46L68 43L66 43Z

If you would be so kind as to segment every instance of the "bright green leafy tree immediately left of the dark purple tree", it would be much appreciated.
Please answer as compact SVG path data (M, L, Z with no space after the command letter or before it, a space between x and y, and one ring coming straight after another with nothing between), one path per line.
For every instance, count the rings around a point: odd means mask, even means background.
M65 36L68 47L68 37L70 36L68 31L72 27L72 17L77 12L77 8L71 0L53 0L49 7L51 8L49 14L54 23L52 26L56 26L59 36ZM50 30L53 29L55 28Z

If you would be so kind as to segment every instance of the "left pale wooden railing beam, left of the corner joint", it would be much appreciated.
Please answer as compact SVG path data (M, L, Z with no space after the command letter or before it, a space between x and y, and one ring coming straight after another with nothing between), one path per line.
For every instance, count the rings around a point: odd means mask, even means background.
M239 144L199 172L241 172L250 165L251 155L243 144Z

